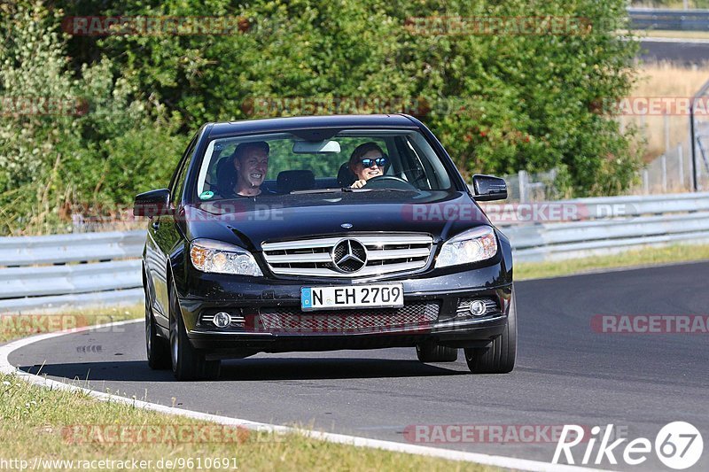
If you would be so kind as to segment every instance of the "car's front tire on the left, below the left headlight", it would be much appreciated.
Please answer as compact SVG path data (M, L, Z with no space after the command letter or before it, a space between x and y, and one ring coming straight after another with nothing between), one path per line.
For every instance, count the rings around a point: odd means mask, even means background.
M205 360L204 352L192 346L184 327L175 289L170 290L170 360L175 379L209 380L219 376L220 360Z

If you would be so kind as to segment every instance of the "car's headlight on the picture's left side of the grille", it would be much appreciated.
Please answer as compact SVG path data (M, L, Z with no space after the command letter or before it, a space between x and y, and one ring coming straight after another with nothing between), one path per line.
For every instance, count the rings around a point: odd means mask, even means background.
M192 266L202 272L262 276L251 252L211 239L195 239L190 247Z

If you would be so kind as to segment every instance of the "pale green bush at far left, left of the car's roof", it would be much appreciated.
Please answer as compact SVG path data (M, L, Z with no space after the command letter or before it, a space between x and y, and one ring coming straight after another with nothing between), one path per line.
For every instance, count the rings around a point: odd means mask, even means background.
M0 234L62 230L74 208L113 212L138 190L167 185L185 143L179 120L105 55L73 74L61 12L40 2L0 8L0 31L12 35L0 46ZM75 104L75 112L17 106L43 100Z

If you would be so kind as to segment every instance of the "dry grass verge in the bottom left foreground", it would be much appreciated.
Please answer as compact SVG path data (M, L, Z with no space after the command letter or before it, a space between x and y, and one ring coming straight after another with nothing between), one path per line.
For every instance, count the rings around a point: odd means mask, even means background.
M0 462L16 460L17 468L136 469L144 460L148 470L497 470L159 414L50 391L16 375L0 375L0 389Z

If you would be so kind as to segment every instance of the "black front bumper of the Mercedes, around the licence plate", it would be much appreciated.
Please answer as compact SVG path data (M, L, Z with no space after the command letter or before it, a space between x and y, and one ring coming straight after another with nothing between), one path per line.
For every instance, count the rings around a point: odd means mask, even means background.
M510 306L511 274L497 260L487 267L471 267L462 272L417 275L407 279L378 281L402 282L404 306L437 306L434 316L425 321L401 322L366 327L356 323L368 310L342 312L300 312L300 288L315 285L352 285L354 281L273 280L262 277L235 277L195 273L185 290L178 289L183 320L191 343L205 350L208 359L246 357L256 352L332 351L339 349L377 349L414 346L434 342L450 347L477 347L488 344L503 333ZM182 293L181 293L182 292ZM204 294L204 295L198 295ZM497 309L481 317L458 315L466 299L486 298ZM225 329L201 322L205 313L225 311L245 318L243 326ZM409 309L409 313L411 309ZM314 321L331 317L355 321L354 329L269 329L261 323L265 313L287 313L289 319ZM378 315L380 320L385 314ZM353 318L359 317L359 318ZM303 321L303 326L307 324ZM319 326L319 325L318 325Z

